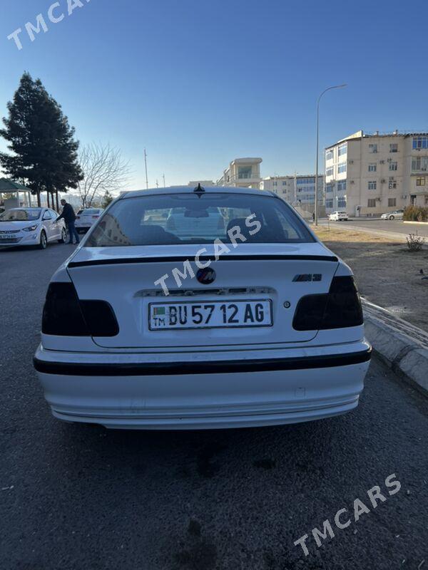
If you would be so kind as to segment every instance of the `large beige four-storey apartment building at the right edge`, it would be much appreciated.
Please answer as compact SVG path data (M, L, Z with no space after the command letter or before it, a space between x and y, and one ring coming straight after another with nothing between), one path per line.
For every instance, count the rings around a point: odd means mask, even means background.
M325 209L374 216L428 205L428 133L362 130L325 149Z

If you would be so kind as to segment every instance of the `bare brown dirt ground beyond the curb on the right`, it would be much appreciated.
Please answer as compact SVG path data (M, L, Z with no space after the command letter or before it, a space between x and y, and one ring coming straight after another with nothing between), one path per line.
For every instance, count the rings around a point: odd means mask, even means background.
M427 249L409 252L405 243L362 232L315 230L322 242L350 265L362 296L428 331ZM427 279L422 279L424 276Z

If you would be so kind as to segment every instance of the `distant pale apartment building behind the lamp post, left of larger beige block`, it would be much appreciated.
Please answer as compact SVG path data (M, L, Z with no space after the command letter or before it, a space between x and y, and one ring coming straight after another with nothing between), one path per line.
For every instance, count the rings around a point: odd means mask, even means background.
M318 202L324 203L324 176L318 176ZM268 176L260 190L270 190L293 205L313 211L315 204L315 175Z

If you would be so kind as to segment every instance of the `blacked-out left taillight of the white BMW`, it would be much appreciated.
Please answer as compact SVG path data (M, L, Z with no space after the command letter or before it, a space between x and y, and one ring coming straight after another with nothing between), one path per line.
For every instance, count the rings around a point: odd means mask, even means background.
M72 283L51 283L41 331L58 336L116 336L116 316L106 301L80 301Z

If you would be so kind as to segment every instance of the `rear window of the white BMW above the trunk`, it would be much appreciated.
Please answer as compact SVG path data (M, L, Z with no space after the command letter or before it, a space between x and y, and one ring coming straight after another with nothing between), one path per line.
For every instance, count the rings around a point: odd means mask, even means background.
M208 244L215 239L227 243L233 228L249 243L315 241L281 199L210 192L200 197L186 193L119 200L104 214L85 245Z

